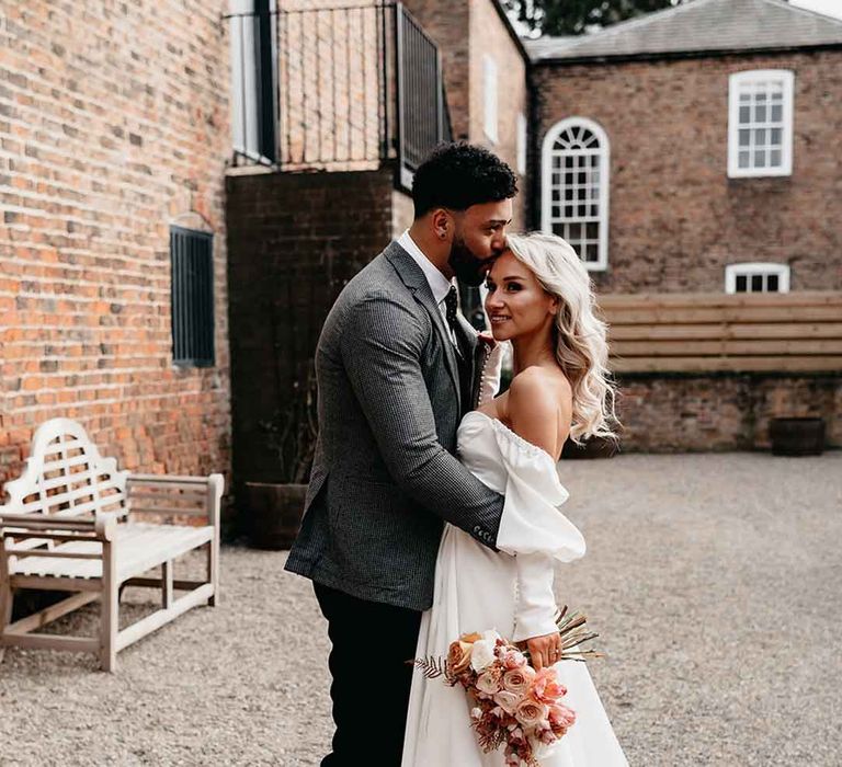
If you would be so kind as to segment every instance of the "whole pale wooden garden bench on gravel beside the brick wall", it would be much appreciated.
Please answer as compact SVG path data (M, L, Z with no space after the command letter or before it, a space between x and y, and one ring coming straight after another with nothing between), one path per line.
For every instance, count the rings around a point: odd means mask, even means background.
M191 607L216 604L223 486L221 474L118 471L75 421L44 423L22 477L5 485L9 503L0 505L0 660L11 645L75 650L96 653L101 667L114 671L123 648ZM206 579L174 580L173 560L202 547ZM160 588L161 608L120 630L120 593L127 585ZM73 595L11 623L20 588ZM186 594L177 598L177 591ZM99 637L37 632L95 599Z

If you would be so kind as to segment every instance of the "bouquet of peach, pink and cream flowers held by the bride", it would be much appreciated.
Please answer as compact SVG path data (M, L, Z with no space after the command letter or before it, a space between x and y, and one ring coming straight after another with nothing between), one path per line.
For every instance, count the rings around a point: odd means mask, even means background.
M599 657L592 650L576 648L598 634L577 631L583 616L558 619L562 638L561 660ZM505 746L508 767L538 766L576 722L576 713L561 702L567 695L554 666L535 671L527 652L503 639L497 631L463 634L453 642L447 659L421 659L414 664L428 678L444 676L462 685L471 699L470 726L483 752Z

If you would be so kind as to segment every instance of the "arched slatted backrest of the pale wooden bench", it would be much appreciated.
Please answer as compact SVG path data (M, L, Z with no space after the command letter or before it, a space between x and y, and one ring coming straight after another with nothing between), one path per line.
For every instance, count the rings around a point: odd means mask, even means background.
M100 456L80 424L70 419L43 423L20 479L8 482L4 511L54 517L93 516L96 511L127 514L127 471Z

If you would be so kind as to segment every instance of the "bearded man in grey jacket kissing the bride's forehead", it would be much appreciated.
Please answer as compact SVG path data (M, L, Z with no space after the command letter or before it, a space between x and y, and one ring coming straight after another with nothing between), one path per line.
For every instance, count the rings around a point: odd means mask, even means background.
M503 499L454 457L476 387L454 276L479 285L505 243L511 169L467 144L416 172L411 228L342 290L316 352L319 439L286 570L314 581L332 643L333 752L400 764L421 611L444 520L486 546ZM434 767L434 766L431 766Z

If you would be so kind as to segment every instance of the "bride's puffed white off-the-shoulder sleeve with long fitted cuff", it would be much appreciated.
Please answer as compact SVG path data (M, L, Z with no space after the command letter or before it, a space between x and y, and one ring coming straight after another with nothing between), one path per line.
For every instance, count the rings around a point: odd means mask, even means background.
M497 547L515 558L517 603L511 639L520 642L557 630L555 561L579 559L585 545L560 511L568 492L553 458L500 422L492 425L508 473Z

